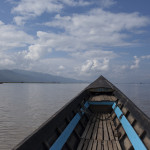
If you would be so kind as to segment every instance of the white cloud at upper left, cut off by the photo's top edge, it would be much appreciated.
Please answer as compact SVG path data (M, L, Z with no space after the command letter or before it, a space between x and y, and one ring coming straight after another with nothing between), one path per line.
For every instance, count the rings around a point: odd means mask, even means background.
M23 25L28 19L40 16L44 12L60 12L64 8L64 5L86 6L89 4L89 2L83 0L21 0L12 9L12 13L16 14L14 17L16 24Z

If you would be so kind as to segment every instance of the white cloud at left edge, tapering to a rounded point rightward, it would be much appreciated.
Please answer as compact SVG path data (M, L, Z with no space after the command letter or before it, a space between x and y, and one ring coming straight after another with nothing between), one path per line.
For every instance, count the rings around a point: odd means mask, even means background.
M25 47L33 43L34 39L24 31L13 25L4 24L0 21L0 50L11 50L13 48Z

